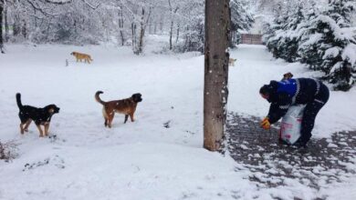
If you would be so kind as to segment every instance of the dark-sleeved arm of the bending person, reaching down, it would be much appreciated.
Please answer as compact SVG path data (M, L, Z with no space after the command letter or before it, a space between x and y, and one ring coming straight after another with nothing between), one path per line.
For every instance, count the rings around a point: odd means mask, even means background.
M282 116L286 115L289 106L292 104L291 97L288 94L280 94L277 102L269 106L268 121L270 124L276 123Z

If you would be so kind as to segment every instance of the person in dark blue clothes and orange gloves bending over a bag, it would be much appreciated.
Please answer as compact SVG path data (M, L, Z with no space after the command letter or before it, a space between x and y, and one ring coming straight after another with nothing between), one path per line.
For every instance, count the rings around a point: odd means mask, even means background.
M329 100L329 88L319 80L311 78L290 78L282 81L270 81L263 85L259 94L269 103L268 115L262 120L261 126L269 129L286 115L290 105L306 105L304 108L300 137L294 145L306 146L311 137L315 118L319 110Z

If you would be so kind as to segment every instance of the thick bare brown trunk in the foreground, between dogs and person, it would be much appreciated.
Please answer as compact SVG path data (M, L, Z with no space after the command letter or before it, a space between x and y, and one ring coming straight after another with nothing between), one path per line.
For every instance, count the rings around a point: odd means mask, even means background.
M219 150L225 135L229 0L205 0L204 148Z

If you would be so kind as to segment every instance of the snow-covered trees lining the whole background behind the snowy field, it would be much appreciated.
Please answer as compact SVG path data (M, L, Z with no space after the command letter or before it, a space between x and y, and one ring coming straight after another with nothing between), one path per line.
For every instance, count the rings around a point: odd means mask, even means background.
M337 90L356 80L355 0L231 0L230 47L256 17L276 58L324 73ZM140 55L147 35L165 35L162 51L204 52L204 0L0 0L4 44L131 46Z

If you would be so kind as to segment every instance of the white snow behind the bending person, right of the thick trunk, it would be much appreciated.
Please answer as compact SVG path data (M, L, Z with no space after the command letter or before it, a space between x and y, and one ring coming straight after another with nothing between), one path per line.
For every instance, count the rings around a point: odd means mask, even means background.
M237 61L236 66L229 70L228 110L240 115L267 115L269 105L258 91L270 80L280 80L287 72L291 72L294 77L320 76L304 65L274 59L263 45L240 45L231 52L231 56ZM355 87L348 93L332 91L329 102L317 116L313 137L330 137L342 130L356 130L355 112Z

